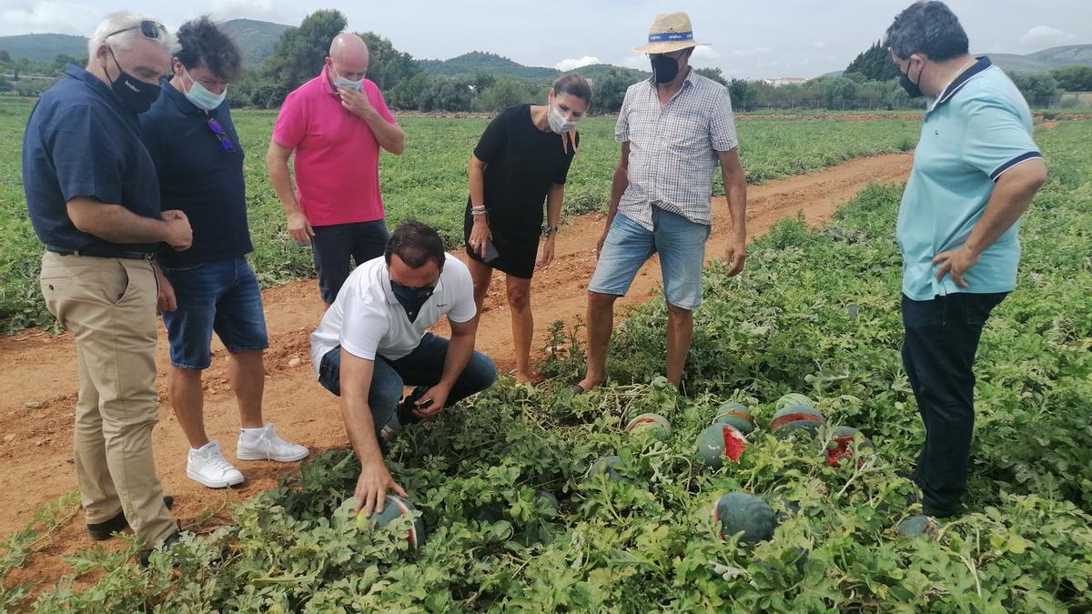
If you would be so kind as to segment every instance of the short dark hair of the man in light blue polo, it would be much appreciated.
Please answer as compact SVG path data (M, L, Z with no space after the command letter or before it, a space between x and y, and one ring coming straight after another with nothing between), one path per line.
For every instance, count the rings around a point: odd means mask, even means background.
M883 46L904 60L925 54L935 62L965 56L969 48L966 32L956 13L937 0L914 2L899 13L887 31Z

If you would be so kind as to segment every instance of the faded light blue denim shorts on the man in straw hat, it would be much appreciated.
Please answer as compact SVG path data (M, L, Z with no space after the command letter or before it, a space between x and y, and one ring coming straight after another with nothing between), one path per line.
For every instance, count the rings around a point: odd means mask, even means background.
M649 232L621 213L615 215L587 290L624 296L641 265L658 252L664 297L676 307L697 309L710 227L653 206L652 228Z

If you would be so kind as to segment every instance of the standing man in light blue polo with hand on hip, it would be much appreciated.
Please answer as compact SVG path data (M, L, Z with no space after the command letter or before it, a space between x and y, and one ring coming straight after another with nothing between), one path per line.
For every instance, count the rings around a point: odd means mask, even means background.
M1028 103L942 2L900 13L885 45L928 107L899 209L902 358L925 423L914 481L948 517L966 491L974 357L990 310L1016 287L1020 216L1046 180Z

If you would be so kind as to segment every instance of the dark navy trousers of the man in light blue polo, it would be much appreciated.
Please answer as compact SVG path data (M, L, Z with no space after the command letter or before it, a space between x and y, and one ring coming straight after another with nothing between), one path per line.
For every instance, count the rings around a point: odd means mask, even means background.
M925 423L914 481L923 504L954 513L966 492L974 434L974 357L989 312L1007 293L902 296L902 362Z

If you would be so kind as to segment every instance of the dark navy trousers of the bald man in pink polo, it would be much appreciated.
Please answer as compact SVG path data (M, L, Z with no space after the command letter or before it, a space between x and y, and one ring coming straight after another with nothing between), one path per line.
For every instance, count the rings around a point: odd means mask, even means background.
M314 272L319 276L319 294L327 304L337 298L337 292L348 279L351 258L359 267L379 258L387 249L387 223L383 220L313 226L312 229Z

